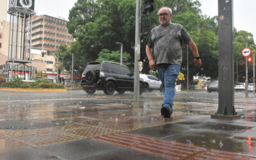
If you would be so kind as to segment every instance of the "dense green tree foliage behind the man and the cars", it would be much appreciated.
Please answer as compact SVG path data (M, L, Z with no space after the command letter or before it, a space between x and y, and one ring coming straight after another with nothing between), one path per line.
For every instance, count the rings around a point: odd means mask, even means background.
M193 54L189 50L189 75L185 78L192 83L193 76L206 76L216 79L218 77L218 19L202 15L199 0L155 0L154 12L142 15L141 19L151 19L154 26L159 25L156 15L159 8L170 6L173 11L172 22L182 24L195 41L202 67L198 69L194 65ZM116 61L119 62L120 45L124 44L124 53L131 58L124 61L129 67L134 63L135 40L135 12L134 0L77 0L69 13L67 22L68 31L76 38L71 47L60 46L61 57L64 58L64 67L70 71L72 66L72 53L74 53L75 75L81 75L84 67L90 61ZM241 57L241 49L254 45L253 35L246 31L236 31L234 35L235 60L238 60L239 81L244 80L244 58ZM149 72L147 56L145 54L146 37L141 37L140 60L144 61L143 71ZM252 47L251 47L252 49ZM187 72L186 46L183 47L183 61L180 72ZM106 55L105 55L106 54ZM131 65L130 65L131 64ZM249 67L249 74L252 67ZM180 83L186 84L187 81Z

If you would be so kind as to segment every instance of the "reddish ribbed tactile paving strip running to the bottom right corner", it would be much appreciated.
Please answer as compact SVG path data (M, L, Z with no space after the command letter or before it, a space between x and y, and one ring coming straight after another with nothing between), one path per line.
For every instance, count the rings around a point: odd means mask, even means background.
M117 133L99 136L93 140L168 159L256 159L256 156L237 154L225 150L207 149L186 143L159 140L138 134Z

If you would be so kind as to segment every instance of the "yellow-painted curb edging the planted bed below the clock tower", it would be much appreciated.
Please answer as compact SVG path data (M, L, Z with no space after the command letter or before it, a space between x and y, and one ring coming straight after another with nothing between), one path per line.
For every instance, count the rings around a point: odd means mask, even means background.
M0 90L19 92L67 92L67 89L60 88L0 88Z

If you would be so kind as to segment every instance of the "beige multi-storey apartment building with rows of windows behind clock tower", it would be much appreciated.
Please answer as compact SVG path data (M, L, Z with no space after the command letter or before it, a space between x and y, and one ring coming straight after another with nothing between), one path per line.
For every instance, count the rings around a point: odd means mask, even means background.
M58 51L60 44L70 47L74 41L68 33L67 21L49 15L34 15L32 21L32 48Z

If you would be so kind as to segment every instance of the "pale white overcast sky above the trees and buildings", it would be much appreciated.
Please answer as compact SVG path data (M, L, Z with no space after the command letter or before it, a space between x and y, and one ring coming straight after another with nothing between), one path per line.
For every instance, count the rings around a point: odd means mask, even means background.
M36 15L51 15L68 20L69 10L77 0L35 0ZM218 15L218 0L199 0L204 15ZM237 31L244 30L253 34L256 42L256 0L234 1L234 27ZM172 6L170 6L172 8ZM175 16L175 15L173 15Z

